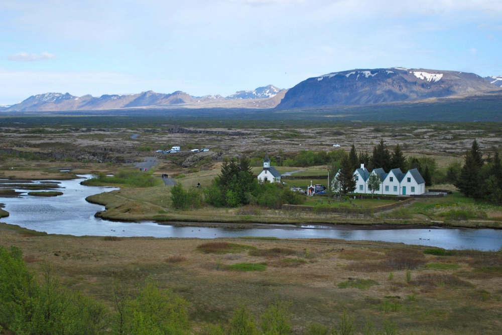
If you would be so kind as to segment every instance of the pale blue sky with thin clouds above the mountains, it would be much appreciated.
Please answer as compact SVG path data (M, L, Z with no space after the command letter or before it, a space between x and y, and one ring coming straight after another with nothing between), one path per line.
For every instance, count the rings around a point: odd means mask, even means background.
M0 105L227 96L390 67L502 75L502 0L0 0Z

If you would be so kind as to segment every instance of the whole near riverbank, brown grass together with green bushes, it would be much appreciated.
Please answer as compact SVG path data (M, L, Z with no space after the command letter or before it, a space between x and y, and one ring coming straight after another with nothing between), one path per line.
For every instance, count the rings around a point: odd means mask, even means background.
M0 322L14 333L496 334L501 326L495 251L0 231Z

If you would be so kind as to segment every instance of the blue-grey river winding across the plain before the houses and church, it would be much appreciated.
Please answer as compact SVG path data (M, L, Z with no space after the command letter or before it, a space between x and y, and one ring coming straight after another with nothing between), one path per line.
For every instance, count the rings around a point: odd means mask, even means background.
M89 178L90 175L79 176ZM155 222L116 222L94 217L104 206L88 203L89 195L115 190L113 187L90 187L80 185L83 179L53 181L61 186L64 194L58 197L32 197L24 192L17 198L0 198L10 216L3 222L21 227L45 231L49 234L97 235L97 236L152 236L152 237L238 237L273 236L279 238L341 238L346 240L371 240L402 242L438 246L445 249L497 250L502 247L502 230L456 229L456 228L404 228L364 229L355 226L305 226L257 225L249 229L176 227ZM4 184L5 185L5 184Z

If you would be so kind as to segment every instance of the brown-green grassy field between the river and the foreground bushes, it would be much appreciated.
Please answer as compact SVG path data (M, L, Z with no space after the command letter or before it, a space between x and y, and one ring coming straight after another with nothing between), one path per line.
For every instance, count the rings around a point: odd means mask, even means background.
M195 328L227 324L240 303L258 315L275 299L291 301L294 334L312 321L333 325L343 310L358 331L366 317L376 330L390 319L410 335L498 334L502 326L502 271L486 270L502 264L500 252L436 256L423 247L331 239L70 237L6 224L0 232L0 245L21 247L31 269L49 261L67 287L107 306L113 280L135 290L151 277L190 302Z

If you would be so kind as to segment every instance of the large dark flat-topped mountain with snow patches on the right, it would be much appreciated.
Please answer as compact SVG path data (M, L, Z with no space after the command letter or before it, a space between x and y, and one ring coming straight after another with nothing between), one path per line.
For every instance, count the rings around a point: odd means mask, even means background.
M496 90L472 73L406 68L350 70L301 82L289 89L277 108L405 102Z

